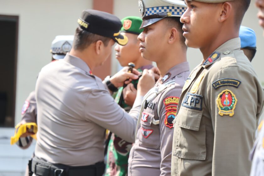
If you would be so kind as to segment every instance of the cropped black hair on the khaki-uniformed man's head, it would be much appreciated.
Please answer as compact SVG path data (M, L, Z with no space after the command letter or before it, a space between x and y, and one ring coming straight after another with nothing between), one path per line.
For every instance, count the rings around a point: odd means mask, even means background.
M249 8L250 0L235 0L231 1L234 4L235 9L235 21L236 25L239 27L241 25L242 19Z

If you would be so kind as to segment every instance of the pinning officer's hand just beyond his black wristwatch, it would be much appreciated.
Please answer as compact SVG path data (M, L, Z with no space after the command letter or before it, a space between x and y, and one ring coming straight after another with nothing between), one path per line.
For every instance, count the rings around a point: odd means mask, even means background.
M138 79L138 75L140 75L138 70L133 69L132 73L128 73L127 71L128 67L121 69L110 78L111 83L116 87L121 87L124 85L124 83L129 84L132 80Z

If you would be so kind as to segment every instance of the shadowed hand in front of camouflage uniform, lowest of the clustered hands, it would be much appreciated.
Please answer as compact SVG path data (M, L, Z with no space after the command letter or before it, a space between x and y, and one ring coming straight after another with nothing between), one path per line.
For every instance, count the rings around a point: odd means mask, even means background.
M123 97L124 97L125 103L129 106L133 106L136 96L137 96L137 90L135 89L132 83L129 83L123 89Z

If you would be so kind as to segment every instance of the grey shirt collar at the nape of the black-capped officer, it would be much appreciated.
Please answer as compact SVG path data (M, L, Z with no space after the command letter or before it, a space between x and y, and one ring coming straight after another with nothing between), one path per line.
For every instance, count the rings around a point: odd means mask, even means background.
M87 63L85 63L81 58L77 58L67 53L63 60L74 65L75 67L84 70L86 73L92 74L91 69L89 68Z

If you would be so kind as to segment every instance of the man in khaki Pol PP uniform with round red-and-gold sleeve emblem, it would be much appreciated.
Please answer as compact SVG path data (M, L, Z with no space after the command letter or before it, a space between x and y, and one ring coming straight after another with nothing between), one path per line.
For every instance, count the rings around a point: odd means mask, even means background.
M186 80L173 121L172 175L250 173L248 154L264 94L240 50L239 26L249 5L245 2L185 1L185 43L200 48L204 60Z

